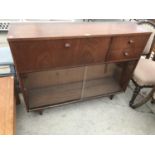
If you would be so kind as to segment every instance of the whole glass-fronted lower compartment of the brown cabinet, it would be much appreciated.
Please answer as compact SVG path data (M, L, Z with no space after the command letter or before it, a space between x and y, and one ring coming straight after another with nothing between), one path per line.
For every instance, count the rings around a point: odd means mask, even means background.
M123 63L110 63L28 73L23 84L29 108L119 92L123 68Z

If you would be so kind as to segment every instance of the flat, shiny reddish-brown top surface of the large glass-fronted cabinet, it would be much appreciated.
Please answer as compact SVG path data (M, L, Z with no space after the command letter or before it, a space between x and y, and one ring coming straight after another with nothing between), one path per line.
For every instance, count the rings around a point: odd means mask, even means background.
M131 22L111 23L18 23L11 24L8 40L78 38L150 33Z

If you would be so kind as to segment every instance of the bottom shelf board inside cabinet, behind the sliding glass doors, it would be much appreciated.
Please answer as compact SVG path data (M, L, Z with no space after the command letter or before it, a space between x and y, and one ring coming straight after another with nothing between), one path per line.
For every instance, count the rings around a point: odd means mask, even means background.
M83 90L82 90L83 88ZM112 94L121 91L119 83L112 77L55 85L28 92L29 108L35 109L49 105L62 104L89 97Z

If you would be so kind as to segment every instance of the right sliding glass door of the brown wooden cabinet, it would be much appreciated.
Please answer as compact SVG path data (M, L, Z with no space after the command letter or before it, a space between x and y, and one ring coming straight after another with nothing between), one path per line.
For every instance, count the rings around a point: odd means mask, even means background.
M82 97L111 94L121 91L119 64L100 64L85 68L85 82Z

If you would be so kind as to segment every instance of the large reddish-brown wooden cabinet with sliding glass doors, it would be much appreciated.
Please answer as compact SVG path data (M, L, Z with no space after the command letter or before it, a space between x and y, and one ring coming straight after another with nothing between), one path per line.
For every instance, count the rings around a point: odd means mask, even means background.
M125 22L12 24L27 110L125 91L150 34Z

